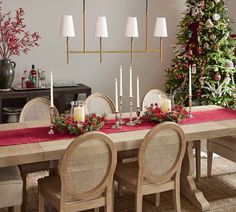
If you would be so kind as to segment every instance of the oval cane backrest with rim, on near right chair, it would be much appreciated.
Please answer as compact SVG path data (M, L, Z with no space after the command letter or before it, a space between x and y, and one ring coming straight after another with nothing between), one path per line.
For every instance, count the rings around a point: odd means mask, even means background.
M144 138L139 150L140 179L165 183L180 170L186 148L182 128L172 122L154 127Z

